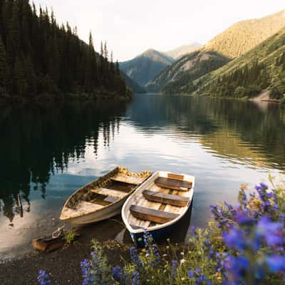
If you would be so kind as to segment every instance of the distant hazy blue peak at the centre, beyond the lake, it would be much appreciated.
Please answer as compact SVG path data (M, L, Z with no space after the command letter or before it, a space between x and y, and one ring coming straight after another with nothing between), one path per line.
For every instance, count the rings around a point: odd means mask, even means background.
M120 69L141 86L155 78L175 60L170 56L149 49L130 61L120 63Z

